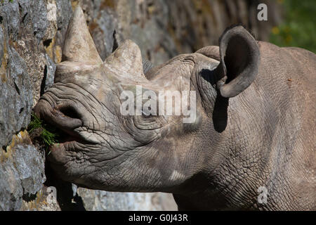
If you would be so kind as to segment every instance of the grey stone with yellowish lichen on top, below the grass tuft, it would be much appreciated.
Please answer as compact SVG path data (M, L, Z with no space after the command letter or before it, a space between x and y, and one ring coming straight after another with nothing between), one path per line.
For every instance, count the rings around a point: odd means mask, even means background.
M23 201L37 195L46 181L44 162L27 131L14 135L11 145L0 150L0 210L20 210Z

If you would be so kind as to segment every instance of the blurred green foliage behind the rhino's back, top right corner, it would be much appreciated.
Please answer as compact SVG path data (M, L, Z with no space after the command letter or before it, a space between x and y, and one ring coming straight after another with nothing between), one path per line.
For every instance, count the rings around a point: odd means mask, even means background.
M316 53L316 1L278 0L284 8L284 23L272 28L270 42L296 46Z

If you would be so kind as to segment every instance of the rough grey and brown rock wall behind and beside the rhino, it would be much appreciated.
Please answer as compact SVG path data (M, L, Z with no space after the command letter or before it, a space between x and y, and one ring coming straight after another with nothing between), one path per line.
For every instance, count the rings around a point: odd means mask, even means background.
M258 1L246 0L1 0L0 210L176 210L171 195L92 191L60 181L29 139L32 108L53 84L75 6L84 9L103 60L115 37L117 44L132 39L143 58L158 65L217 45L234 23L267 40L279 18L274 1L263 2L271 9L268 22L256 20Z

